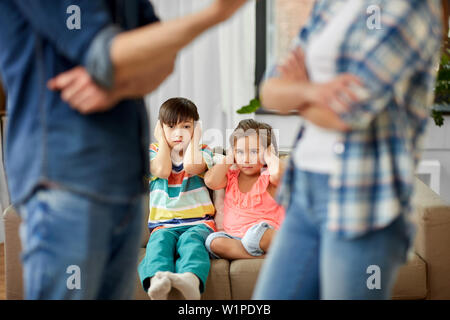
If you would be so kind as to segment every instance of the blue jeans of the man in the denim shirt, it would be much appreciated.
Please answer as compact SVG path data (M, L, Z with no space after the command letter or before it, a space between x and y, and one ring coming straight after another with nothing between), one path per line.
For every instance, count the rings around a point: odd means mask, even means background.
M142 201L36 191L19 207L25 298L133 298Z

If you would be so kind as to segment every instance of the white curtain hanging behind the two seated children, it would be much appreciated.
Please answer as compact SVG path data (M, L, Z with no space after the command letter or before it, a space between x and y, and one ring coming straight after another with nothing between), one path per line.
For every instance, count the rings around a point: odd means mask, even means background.
M152 0L161 20L197 12L211 0ZM192 100L203 124L203 143L223 146L227 130L253 115L236 110L254 98L255 2L202 34L178 55L174 73L146 97L151 137L161 104L172 97Z

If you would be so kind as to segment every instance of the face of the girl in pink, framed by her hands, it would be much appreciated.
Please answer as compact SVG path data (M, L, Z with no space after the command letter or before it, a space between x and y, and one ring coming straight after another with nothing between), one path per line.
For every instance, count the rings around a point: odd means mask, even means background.
M261 147L258 140L256 134L236 140L234 160L239 170L246 175L259 174L264 166L264 148Z

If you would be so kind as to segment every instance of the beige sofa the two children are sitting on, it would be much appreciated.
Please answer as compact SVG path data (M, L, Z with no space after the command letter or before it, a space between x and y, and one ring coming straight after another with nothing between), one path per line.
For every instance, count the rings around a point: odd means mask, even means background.
M416 181L414 195L418 233L414 258L398 274L393 299L450 299L450 206L425 184ZM6 297L22 299L21 245L18 236L20 218L12 207L4 213ZM140 259L145 254L148 231L144 236ZM202 299L250 299L264 260L213 260ZM148 299L136 274L136 299ZM176 292L171 298L179 298Z

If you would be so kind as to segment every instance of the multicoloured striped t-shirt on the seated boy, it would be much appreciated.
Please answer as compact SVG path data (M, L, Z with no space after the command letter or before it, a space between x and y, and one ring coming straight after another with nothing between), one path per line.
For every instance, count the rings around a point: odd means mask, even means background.
M203 159L209 168L213 166L213 153L207 145L201 145ZM150 145L150 162L158 153L158 144ZM151 165L151 163L150 163ZM150 177L150 232L167 227L204 223L214 231L215 208L203 180L204 174L189 175L183 164L172 163L168 179Z

